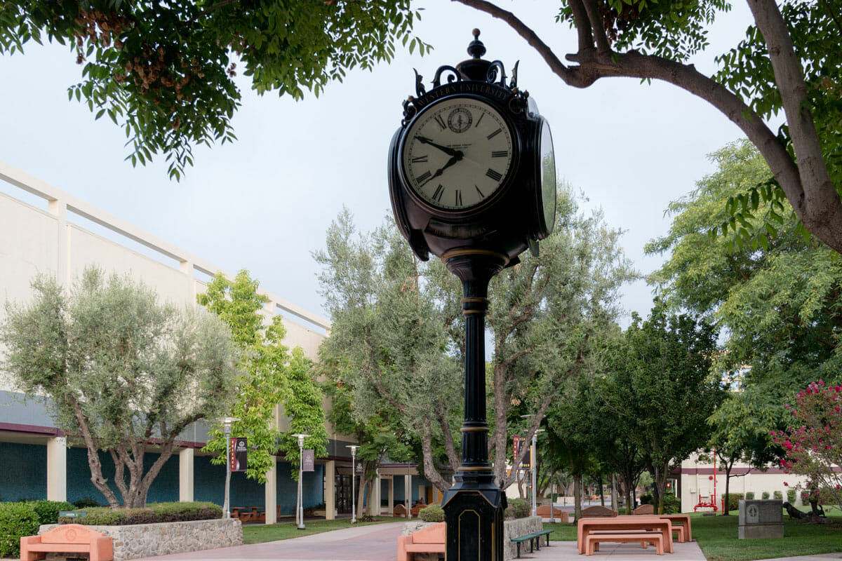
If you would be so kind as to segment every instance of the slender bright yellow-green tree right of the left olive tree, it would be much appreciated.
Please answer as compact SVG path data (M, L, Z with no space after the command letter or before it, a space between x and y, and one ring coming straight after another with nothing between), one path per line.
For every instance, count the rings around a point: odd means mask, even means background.
M232 436L248 437L246 477L264 483L274 465L272 456L279 451L297 463L298 439L292 436L296 432L309 434L307 447L313 448L317 458L325 456L328 431L322 391L312 379L310 361L301 348L296 347L290 356L281 342L286 335L281 316L272 315L267 321L261 313L269 298L258 294L258 282L245 270L234 280L217 273L207 292L196 300L231 328L240 350L241 374L230 413L240 419L232 426ZM290 417L290 431L284 434L274 425L275 408L279 406ZM221 427L210 431L205 450L217 454L212 460L215 463L225 463L226 440ZM298 478L297 470L293 478Z

